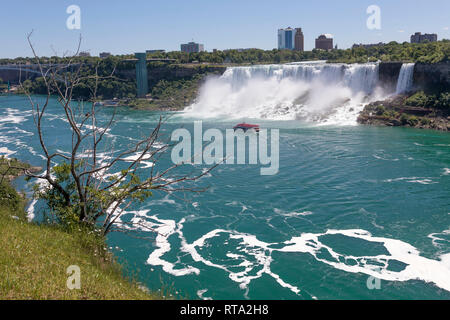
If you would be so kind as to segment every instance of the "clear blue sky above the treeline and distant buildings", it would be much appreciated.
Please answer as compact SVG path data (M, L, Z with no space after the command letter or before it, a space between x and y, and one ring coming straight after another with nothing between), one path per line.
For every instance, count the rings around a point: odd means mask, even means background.
M66 28L72 4L81 8L81 30ZM381 8L381 30L366 27L369 5ZM409 41L416 31L450 38L448 0L3 0L0 10L0 58L30 56L31 30L39 55L73 51L80 33L82 49L92 55L179 50L191 40L208 51L273 49L277 29L288 26L303 28L306 50L322 33L333 34L339 48Z

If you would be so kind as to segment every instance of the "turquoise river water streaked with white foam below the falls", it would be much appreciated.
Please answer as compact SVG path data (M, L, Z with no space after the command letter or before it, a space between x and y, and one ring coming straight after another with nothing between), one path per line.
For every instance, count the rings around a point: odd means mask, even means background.
M107 144L127 146L157 116L119 110ZM45 132L55 150L71 145L62 119L52 101ZM174 114L164 132L192 131L193 120ZM278 175L219 166L196 183L206 192L155 194L129 209L124 220L140 216L158 237L110 235L143 284L193 299L450 299L450 134L259 123L280 129ZM223 132L234 124L203 122ZM33 133L27 100L0 96L0 152L42 166Z

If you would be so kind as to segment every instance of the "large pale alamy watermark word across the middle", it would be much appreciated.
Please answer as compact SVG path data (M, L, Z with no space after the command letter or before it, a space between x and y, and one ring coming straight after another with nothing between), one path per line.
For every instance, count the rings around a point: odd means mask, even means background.
M171 154L174 164L260 164L264 166L260 169L261 175L278 173L280 167L278 129L270 129L269 143L267 129L258 132L227 129L224 138L219 129L208 129L203 132L202 121L195 121L193 135L192 137L187 129L176 129L172 132L171 140L178 141Z

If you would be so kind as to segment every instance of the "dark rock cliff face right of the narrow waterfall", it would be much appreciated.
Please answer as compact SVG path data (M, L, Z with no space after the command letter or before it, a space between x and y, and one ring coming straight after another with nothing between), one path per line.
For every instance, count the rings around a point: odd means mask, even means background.
M435 64L416 64L414 85L425 91L450 91L450 61Z

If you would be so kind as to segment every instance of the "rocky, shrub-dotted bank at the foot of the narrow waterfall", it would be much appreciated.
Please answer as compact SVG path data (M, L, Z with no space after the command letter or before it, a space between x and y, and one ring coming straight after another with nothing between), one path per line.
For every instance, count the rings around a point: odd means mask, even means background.
M413 127L419 129L433 129L450 131L450 109L446 102L421 102L426 95L416 93L413 95L398 95L383 101L368 104L358 116L358 123L365 125L389 127ZM430 100L430 98L425 98ZM418 101L419 102L416 102ZM437 101L437 102L436 102ZM433 107L432 107L433 105Z

